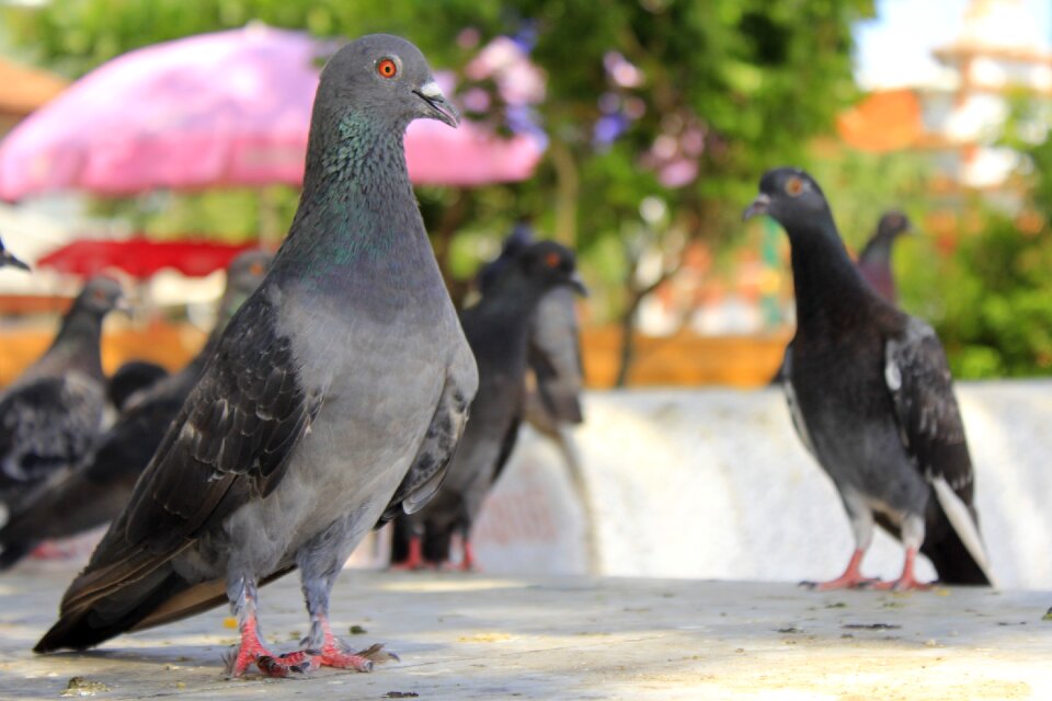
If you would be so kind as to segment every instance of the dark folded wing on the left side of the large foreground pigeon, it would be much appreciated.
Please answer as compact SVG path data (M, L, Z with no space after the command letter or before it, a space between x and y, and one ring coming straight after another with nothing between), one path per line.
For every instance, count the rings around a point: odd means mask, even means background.
M277 486L322 397L298 380L276 311L256 294L231 320L64 611L145 576Z

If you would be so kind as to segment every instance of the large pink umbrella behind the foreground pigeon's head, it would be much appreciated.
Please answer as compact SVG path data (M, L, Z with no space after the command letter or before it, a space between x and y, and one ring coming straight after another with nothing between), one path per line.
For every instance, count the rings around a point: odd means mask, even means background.
M306 34L251 25L119 56L0 143L0 198L298 185L319 48ZM413 181L448 185L524 180L542 149L471 123L416 123L405 140Z

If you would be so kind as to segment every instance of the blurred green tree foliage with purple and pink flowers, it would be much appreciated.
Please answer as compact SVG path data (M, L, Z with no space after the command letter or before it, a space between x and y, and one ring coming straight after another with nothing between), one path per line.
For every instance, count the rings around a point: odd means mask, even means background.
M850 30L871 13L872 0L53 0L4 19L20 46L70 76L250 20L322 36L395 32L453 68L473 55L457 41L465 28L482 42L533 38L550 139L535 179L423 189L423 210L455 287L517 218L575 245L598 318L619 318L626 331L624 381L634 311L678 269L679 252L695 239L732 240L759 174L808 165L811 138L856 96ZM644 277L640 260L655 249L663 267Z

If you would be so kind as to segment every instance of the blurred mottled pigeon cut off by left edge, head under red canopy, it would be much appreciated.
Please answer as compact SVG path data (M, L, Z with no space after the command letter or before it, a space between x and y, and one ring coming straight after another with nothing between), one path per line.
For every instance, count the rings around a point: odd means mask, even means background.
M102 321L125 308L121 285L84 285L47 352L0 397L0 502L11 513L52 474L91 447L105 407Z

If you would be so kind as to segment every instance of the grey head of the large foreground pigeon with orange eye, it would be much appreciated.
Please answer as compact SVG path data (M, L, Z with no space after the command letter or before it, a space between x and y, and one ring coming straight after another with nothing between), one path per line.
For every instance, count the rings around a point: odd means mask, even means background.
M413 119L451 127L457 112L432 77L427 59L410 42L370 34L351 42L321 71L316 104L336 105L404 129Z

